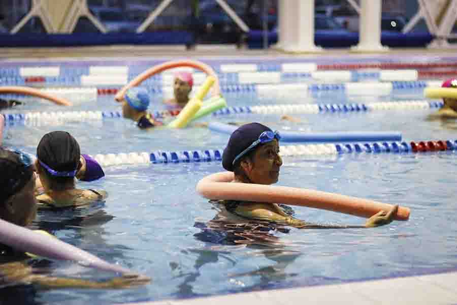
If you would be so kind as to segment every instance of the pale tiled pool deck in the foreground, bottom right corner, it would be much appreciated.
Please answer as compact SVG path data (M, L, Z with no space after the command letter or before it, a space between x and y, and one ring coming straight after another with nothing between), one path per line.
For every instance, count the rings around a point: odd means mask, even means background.
M457 304L457 272L349 284L141 302L141 305Z

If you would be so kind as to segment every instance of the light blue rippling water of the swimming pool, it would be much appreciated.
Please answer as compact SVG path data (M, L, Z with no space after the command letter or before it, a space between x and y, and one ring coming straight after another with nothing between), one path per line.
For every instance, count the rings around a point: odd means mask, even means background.
M373 58L364 59L373 60ZM406 62L407 58L403 58ZM439 61L422 58L423 61ZM442 59L444 60L444 59ZM17 64L17 63L16 63ZM38 65L37 63L28 63ZM112 63L101 62L99 65ZM136 66L131 60L127 65ZM138 64L138 63L137 63ZM58 63L61 67L72 63ZM80 67L93 63L78 63ZM87 69L81 68L82 70ZM231 106L258 104L373 103L421 100L421 88L390 95L346 95L341 90L260 97L227 93ZM152 109L164 108L155 98ZM16 112L54 111L32 100ZM118 110L112 96L81 101L75 110ZM72 110L73 110L72 109ZM452 122L427 121L433 109L295 115L299 123L279 114L214 116L219 121L261 121L272 129L320 131L401 131L404 140L454 140ZM293 115L293 114L292 114ZM144 132L123 119L34 121L13 124L5 143L35 154L43 134L67 130L84 153L118 154L155 150L223 148L227 135L204 128ZM261 289L323 285L455 270L457 216L452 174L453 152L425 154L344 154L284 157L278 184L398 203L411 208L408 222L375 229L299 230L258 233L253 241L227 241L227 229L208 230L218 210L195 192L198 180L221 171L220 162L117 165L105 168L106 178L80 182L83 188L109 193L105 204L76 211L42 212L35 226L58 238L150 276L153 281L128 290L52 290L3 288L3 295L26 303L89 301L97 304L189 298ZM296 216L316 223L362 224L363 219L328 211L294 208ZM282 231L282 232L281 232ZM271 235L271 236L270 236ZM211 242L213 241L213 242ZM253 243L252 245L246 245ZM105 279L108 272L69 262L38 260L53 275ZM17 292L19 293L16 293Z

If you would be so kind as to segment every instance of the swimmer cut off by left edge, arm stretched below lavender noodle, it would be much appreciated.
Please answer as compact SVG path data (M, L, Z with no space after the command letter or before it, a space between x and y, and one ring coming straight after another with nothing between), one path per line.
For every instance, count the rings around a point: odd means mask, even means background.
M0 219L26 227L37 215L34 163L20 151L0 148ZM43 232L43 234L49 234ZM34 284L49 288L128 288L144 285L148 278L126 275L106 282L57 278L35 273L34 255L0 243L0 285ZM35 271L35 272L34 272Z

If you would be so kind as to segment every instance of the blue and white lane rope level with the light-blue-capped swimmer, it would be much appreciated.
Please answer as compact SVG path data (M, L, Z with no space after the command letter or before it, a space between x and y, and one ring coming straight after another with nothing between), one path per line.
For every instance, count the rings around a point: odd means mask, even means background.
M313 114L335 112L369 112L385 110L423 110L441 108L443 102L439 101L405 101L405 102L381 102L370 104L290 104L290 105L259 105L226 107L213 113L214 116L230 114ZM151 112L155 117L162 117L167 110ZM55 111L55 112L27 112L27 113L4 113L5 124L22 121L58 121L58 120L103 120L109 118L121 118L120 111Z

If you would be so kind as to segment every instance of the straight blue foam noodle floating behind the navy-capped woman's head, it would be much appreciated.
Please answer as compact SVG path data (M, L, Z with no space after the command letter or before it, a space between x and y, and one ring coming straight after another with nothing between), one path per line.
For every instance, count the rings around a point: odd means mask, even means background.
M232 134L238 126L211 122L208 129L214 132ZM281 131L281 142L295 143L330 143L330 142L365 142L365 141L401 141L399 132L322 132L303 133Z

